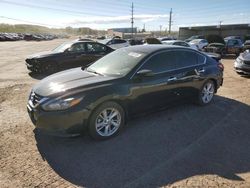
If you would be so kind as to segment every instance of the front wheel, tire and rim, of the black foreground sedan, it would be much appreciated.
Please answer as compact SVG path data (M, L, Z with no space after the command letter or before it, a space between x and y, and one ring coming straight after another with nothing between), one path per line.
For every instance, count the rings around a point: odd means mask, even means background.
M96 140L116 136L125 124L123 108L115 102L105 102L95 109L89 121L89 134Z

